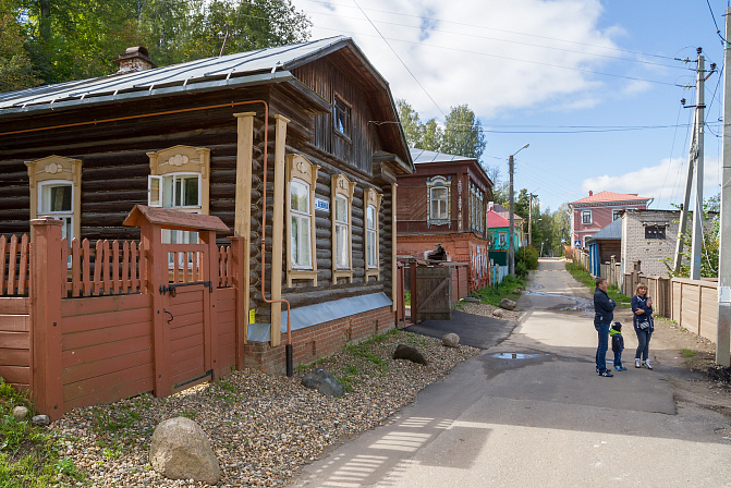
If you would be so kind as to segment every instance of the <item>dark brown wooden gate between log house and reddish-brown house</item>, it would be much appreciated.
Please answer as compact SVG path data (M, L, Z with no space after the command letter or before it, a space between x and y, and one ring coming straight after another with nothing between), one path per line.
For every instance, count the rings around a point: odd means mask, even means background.
M451 320L451 269L443 266L415 266L415 280L412 280L411 293L412 322Z

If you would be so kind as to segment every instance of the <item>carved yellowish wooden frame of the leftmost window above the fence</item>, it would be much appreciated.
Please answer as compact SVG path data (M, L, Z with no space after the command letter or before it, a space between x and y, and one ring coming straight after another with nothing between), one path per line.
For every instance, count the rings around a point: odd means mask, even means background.
M74 239L81 240L81 211L82 211L82 161L81 159L64 158L62 156L48 156L34 161L25 161L28 170L28 180L31 187L31 219L37 219L39 216L48 217L70 217L71 233L66 231L69 245ZM47 185L71 186L71 210L63 212L44 212L42 207L42 187Z

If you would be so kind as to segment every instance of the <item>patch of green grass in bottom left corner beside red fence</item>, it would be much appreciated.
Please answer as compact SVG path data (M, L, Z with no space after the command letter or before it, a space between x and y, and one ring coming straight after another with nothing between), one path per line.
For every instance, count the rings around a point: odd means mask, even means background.
M15 406L28 408L28 419L13 417ZM0 378L0 487L51 488L85 486L73 461L62 457L60 443L45 427L31 425L34 413L25 395Z

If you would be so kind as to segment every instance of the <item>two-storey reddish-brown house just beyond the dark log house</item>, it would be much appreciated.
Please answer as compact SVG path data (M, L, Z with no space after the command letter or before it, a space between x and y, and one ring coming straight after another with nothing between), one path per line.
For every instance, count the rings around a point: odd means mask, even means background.
M492 182L473 158L413 148L411 157L414 173L397 176L398 255L425 259L441 246L444 260L470 263L472 290L486 285Z

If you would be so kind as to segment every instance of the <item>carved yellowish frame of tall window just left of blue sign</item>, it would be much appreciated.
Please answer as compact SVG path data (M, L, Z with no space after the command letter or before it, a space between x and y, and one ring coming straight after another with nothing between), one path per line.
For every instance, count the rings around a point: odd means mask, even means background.
M287 186L284 196L287 198L287 208L284 209L284 220L287 221L287 286L292 288L293 280L313 280L313 286L317 286L317 249L316 249L316 227L315 227L315 186L317 185L318 164L313 164L302 155L287 155ZM292 198L290 198L292 180L299 179L309 185L309 251L312 253L312 269L294 269L292 267Z

